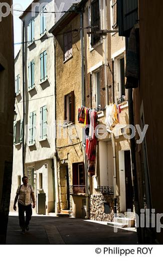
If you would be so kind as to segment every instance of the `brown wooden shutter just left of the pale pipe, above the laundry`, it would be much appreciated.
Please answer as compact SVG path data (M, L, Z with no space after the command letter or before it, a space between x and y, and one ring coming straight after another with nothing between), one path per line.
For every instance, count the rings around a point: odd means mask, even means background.
M105 65L100 66L100 105L104 109L106 105L105 98Z

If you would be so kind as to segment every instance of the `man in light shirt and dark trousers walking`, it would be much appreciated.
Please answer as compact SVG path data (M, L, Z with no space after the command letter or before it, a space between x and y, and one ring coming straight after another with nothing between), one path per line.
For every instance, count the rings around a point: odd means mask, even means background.
M34 189L31 185L28 184L28 177L24 176L22 178L23 185L18 187L17 195L14 201L14 210L17 210L16 204L18 201L19 208L19 224L22 228L22 233L29 230L29 223L32 217L32 204L31 198L33 201L33 208L35 208L35 196ZM19 199L18 199L19 198ZM26 221L25 221L25 211L26 211Z

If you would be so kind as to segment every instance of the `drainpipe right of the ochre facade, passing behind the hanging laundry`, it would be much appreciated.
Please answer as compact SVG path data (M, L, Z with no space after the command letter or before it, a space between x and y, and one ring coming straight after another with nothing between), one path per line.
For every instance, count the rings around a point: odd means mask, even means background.
M81 87L82 87L82 105L85 105L85 66L84 66L84 32L83 32L83 12L80 13L80 38L81 38ZM84 162L85 162L85 183L86 183L86 216L89 218L89 185L88 185L88 172L87 172L87 158L86 158L86 146L83 144L84 150Z

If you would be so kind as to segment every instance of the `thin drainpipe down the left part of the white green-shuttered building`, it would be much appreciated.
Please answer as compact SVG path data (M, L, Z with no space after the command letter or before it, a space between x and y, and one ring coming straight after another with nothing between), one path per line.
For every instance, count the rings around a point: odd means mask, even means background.
M23 126L22 126L22 167L23 176L25 176L25 21L23 21L23 50L22 50L22 64L23 64Z

